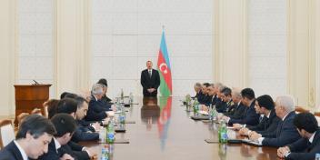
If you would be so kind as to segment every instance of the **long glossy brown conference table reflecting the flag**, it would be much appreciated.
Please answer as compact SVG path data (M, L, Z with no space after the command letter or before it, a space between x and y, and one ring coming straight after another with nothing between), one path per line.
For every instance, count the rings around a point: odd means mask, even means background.
M207 144L205 139L217 141L217 126L194 121L193 112L185 111L179 97L157 99L135 98L135 103L126 108L125 133L117 133L116 140L128 139L129 144L112 145L114 160L206 160L206 159L278 159L276 148L246 144ZM105 144L94 141L81 142L101 156Z

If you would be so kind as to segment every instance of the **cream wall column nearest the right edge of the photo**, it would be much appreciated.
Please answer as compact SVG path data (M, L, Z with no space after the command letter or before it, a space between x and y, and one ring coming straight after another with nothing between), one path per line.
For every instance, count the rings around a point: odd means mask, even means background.
M315 0L288 0L288 93L315 106Z

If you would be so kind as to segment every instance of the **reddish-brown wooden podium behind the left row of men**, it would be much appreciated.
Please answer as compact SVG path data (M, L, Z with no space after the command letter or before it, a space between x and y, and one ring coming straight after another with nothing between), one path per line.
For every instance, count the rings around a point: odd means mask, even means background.
M15 125L17 125L17 115L21 113L30 114L35 108L43 108L44 102L49 99L50 86L51 85L15 85Z

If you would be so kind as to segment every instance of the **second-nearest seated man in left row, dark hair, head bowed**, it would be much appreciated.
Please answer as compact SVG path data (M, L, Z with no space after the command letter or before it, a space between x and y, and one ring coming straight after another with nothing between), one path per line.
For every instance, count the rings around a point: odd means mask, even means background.
M49 144L48 152L39 157L39 160L52 159L74 159L72 155L67 154L63 145L66 145L75 132L75 119L71 115L56 114L51 118L51 122L55 125L56 134ZM67 126L67 127L66 127Z

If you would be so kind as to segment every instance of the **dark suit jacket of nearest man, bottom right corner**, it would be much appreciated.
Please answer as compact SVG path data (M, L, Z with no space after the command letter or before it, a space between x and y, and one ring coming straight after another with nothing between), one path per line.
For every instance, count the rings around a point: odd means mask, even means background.
M315 131L314 140L312 143L309 142L307 138L300 138L293 144L288 145L291 151L291 154L288 155L285 159L292 160L314 160L315 154L320 153L320 129Z

